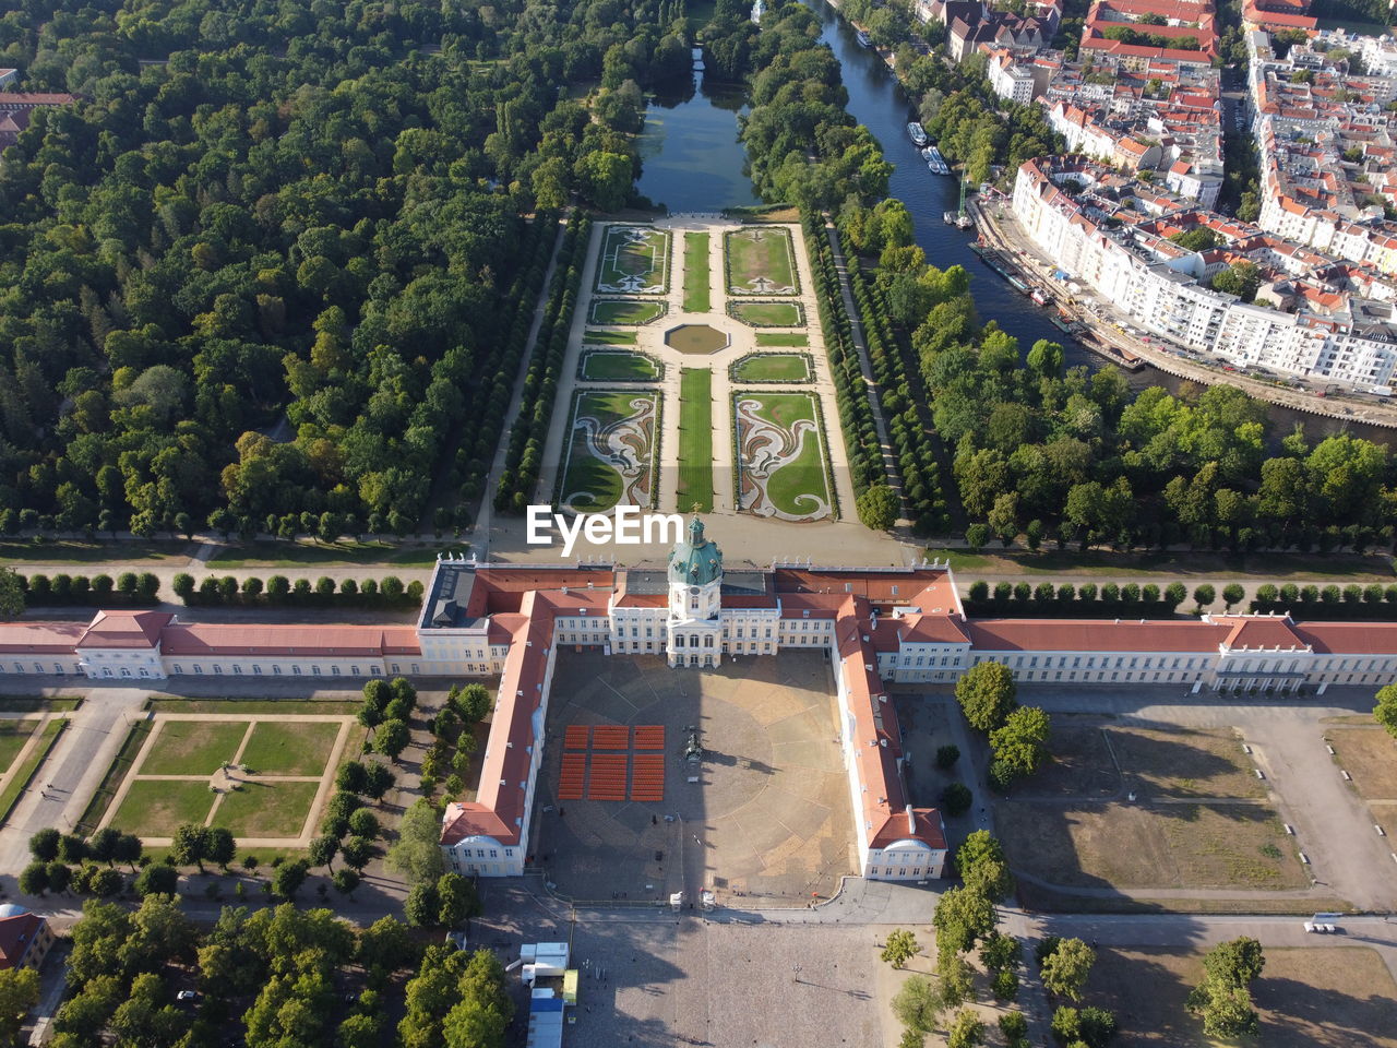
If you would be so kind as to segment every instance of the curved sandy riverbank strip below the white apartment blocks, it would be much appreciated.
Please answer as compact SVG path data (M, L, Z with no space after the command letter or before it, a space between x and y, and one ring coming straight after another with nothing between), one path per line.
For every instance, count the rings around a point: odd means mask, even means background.
M988 242L1000 250L1010 252L1018 265L1028 268L1035 281L1046 285L1063 303L1073 298L1067 285L1053 277L1056 265L1042 256L1014 219L1013 212L1004 204L971 205L977 228ZM1363 422L1370 426L1397 429L1397 405L1375 404L1372 401L1348 398L1341 395L1317 397L1312 393L1302 393L1291 387L1274 386L1260 379L1253 379L1241 372L1227 372L1211 367L1201 361L1194 361L1182 355L1182 351L1162 349L1153 342L1144 342L1123 331L1094 313L1081 307L1067 306L1063 309L1070 319L1091 331L1091 335L1109 347L1112 352L1125 354L1146 361L1166 374L1204 386L1235 386L1249 397L1275 404L1291 411L1302 411L1309 415L1319 415L1340 422ZM1130 319L1120 316L1120 323ZM1090 347L1088 347L1090 348Z

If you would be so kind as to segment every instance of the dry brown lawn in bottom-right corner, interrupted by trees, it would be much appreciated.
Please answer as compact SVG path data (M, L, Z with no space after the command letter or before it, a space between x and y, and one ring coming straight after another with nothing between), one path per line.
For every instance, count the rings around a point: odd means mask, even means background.
M1185 1007L1189 991L1201 978L1201 953L1105 946L1097 950L1084 999L1119 1017L1120 1033L1112 1048L1213 1048L1218 1042L1203 1034L1203 1023ZM1252 984L1252 996L1261 1030L1249 1044L1397 1045L1397 985L1376 950L1267 947L1266 967Z

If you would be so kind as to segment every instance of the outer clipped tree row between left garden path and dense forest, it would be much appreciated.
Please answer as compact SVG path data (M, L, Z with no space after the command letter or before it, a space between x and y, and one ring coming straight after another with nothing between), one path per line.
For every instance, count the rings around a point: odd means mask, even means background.
M520 359L528 345L528 330L534 323L534 303L543 291L543 277L556 242L557 215L539 214L528 225L528 245L521 252L521 257L528 259L528 263L520 268L510 284L509 295L503 299L506 312L499 317L499 328L509 331L509 335L499 340L495 352L479 370L482 377L493 374L493 379L475 383L467 391L469 405L461 423L455 457L446 478L447 485L458 492L460 502L454 511L446 506L436 509L432 524L437 531L444 531L453 524L455 527L471 524L469 507L485 488L495 449L499 447L504 432L504 414L514 394L514 376L518 373Z

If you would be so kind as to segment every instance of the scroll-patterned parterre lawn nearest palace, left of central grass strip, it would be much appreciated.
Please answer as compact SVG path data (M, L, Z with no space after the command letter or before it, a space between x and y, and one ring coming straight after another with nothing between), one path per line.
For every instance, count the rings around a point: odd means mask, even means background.
M559 502L583 511L650 506L659 394L587 390L573 401Z

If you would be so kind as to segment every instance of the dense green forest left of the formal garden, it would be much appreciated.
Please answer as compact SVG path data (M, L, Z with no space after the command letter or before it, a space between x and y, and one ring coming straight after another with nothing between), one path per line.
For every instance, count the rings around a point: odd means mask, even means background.
M626 201L686 35L682 0L8 10L0 63L78 102L0 158L0 531L461 523L525 217Z

